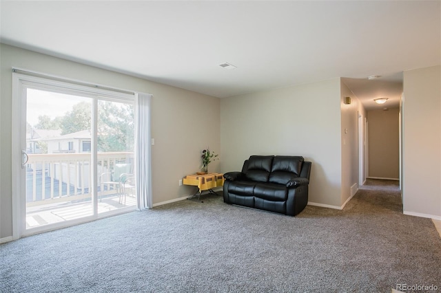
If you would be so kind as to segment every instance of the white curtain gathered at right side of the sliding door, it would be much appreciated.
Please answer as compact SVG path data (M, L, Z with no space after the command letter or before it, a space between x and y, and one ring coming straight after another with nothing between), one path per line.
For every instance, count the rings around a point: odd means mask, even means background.
M152 164L150 143L150 102L152 95L135 94L135 176L137 207L152 208Z

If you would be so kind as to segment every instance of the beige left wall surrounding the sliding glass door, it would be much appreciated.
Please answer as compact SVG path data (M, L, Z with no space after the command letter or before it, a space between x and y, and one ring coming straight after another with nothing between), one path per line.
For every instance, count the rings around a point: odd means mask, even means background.
M178 186L198 171L201 150L220 153L220 100L142 78L0 44L0 239L12 236L12 67L152 94L152 196L158 204L194 192ZM222 157L220 157L222 159ZM210 171L220 171L219 161Z

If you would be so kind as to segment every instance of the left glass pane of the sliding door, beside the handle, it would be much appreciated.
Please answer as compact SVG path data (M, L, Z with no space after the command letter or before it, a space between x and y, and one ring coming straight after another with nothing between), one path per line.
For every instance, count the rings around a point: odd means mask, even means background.
M92 216L92 98L26 96L26 229Z

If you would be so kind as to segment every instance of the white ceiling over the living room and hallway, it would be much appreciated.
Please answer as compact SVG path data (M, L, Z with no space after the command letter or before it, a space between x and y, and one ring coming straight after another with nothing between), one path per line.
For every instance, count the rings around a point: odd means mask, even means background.
M382 109L404 70L441 64L440 4L2 0L0 41L219 98L343 77Z

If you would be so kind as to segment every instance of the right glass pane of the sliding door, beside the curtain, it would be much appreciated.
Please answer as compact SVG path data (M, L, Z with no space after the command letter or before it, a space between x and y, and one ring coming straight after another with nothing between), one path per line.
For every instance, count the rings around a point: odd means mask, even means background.
M134 103L98 101L98 213L136 208Z

